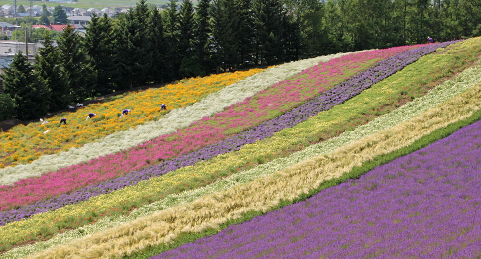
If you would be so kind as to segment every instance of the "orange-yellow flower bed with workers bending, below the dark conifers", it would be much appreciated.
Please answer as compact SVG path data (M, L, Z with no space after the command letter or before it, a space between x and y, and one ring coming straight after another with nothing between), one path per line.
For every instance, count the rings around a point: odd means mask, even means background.
M48 118L49 123L44 125L40 125L40 122L18 125L8 132L0 132L0 168L31 162L41 155L66 151L114 132L159 119L168 112L160 111L161 104L166 104L168 109L185 107L262 71L251 69L185 79L160 88L125 93L114 97L115 100L91 104L74 113L61 113ZM131 109L131 112L119 119L124 109ZM97 116L86 121L88 113ZM67 118L67 125L60 125L63 117ZM49 132L43 134L46 130Z

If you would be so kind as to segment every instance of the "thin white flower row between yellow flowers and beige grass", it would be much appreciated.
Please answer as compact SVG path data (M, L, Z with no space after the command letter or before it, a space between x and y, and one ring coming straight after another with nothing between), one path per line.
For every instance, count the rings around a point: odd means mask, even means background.
M382 115L365 125L359 126L353 131L344 132L338 137L309 146L308 148L296 152L289 157L278 158L266 164L258 165L250 170L242 171L235 175L220 179L208 186L195 190L189 190L177 195L169 195L162 201L158 201L132 211L129 216L116 215L105 217L94 225L86 225L76 230L64 232L48 241L37 242L32 245L12 249L3 254L2 258L25 257L27 255L51 248L55 245L65 244L78 238L85 237L89 234L103 231L114 226L119 226L122 223L127 223L141 217L152 215L163 209L194 201L208 194L227 190L237 185L249 183L257 178L272 175L276 171L283 170L289 166L310 159L314 156L333 152L335 149L343 145L407 121L410 118L415 117L422 112L468 90L475 84L481 82L480 63L481 62L474 67L466 69L452 80L436 86L425 96L416 98L413 100L413 102L407 103L391 113Z

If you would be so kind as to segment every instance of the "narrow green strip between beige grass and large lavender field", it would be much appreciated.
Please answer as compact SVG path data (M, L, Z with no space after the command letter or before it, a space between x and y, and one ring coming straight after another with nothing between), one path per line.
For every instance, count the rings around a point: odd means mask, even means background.
M342 183L344 183L344 182L346 182L347 180L350 180L350 179L359 179L359 177L361 177L361 175L369 172L370 170L376 168L377 166L387 164L387 163L389 163L389 162L391 162L391 161L393 161L393 160L395 160L399 157L402 157L402 156L408 155L410 153L413 153L417 150L420 150L420 149L428 146L431 143L434 143L434 142L436 142L440 139L448 137L449 135L453 134L454 132L461 129L462 127L471 125L471 124L479 121L480 119L481 119L481 110L478 110L477 112L475 112L470 117L468 117L466 119L459 120L455 123L451 123L445 128L435 130L435 131L421 137L419 140L415 141L414 143L412 143L411 145L409 145L407 147L398 149L394 152L391 152L391 153L388 153L388 154L385 154L385 155L377 156L369 162L364 162L361 166L355 166L351 171L343 174L339 178L334 178L334 179L324 181L319 185L318 188L312 189L308 193L303 193L296 199L283 200L279 203L278 206L272 207L271 209L269 209L269 211L267 211L265 213L263 213L261 211L250 211L250 212L244 213L240 218L231 219L231 220L228 220L226 223L221 224L219 226L219 229L210 228L210 229L206 229L202 232L198 232L198 233L181 233L178 236L178 238L176 238L172 243L162 244L162 245L155 246L155 247L149 247L148 249L146 249L142 252L136 252L136 253L133 253L131 256L127 256L127 257L124 257L124 258L126 258L126 259L149 258L151 256L154 256L154 255L160 254L162 252L165 252L167 250L177 248L177 247L179 247L179 246L181 246L185 243L194 242L197 239L214 235L214 234L220 232L221 230L227 228L230 225L240 224L242 222L249 221L256 216L264 215L264 214L267 214L270 211L281 209L282 207L291 205L293 203L304 201L304 200L318 194L319 192L321 192L324 189L327 189L327 188L333 187L333 186L337 186L337 185L342 184Z

